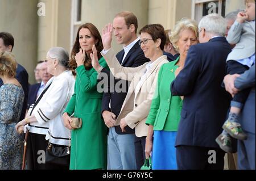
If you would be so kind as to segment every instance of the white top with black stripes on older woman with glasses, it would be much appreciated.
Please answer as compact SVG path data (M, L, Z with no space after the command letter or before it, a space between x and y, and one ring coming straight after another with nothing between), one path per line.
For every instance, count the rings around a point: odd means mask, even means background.
M52 144L69 145L70 132L64 127L61 116L73 95L75 77L70 70L64 71L57 77L49 79L44 89L50 83L52 83L51 86L32 112L38 122L31 123L30 132L46 134L46 140ZM49 129L38 128L46 127L46 125Z

